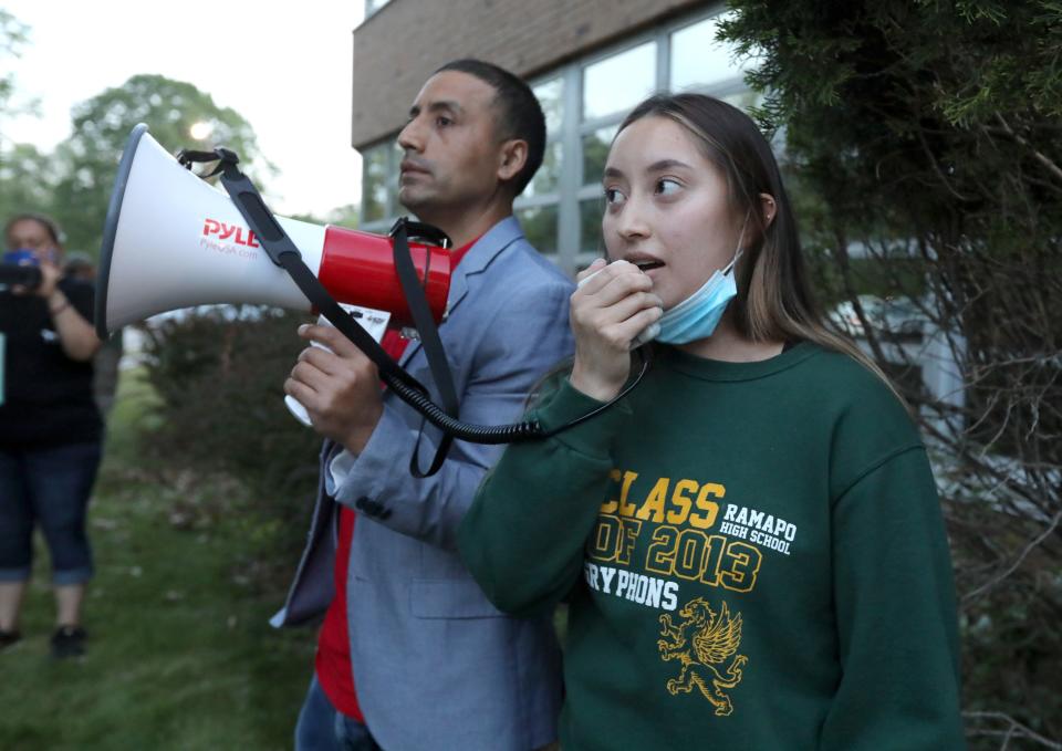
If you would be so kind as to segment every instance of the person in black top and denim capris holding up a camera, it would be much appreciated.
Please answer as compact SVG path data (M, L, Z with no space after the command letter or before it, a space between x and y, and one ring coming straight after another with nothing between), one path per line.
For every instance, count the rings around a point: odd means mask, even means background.
M52 654L84 651L81 606L92 576L85 511L100 466L103 426L93 400L92 285L62 278L55 222L11 219L13 257L41 271L34 289L0 291L3 399L0 404L0 649L20 638L19 615L39 524L52 556L56 628Z

